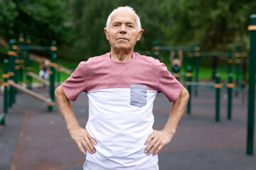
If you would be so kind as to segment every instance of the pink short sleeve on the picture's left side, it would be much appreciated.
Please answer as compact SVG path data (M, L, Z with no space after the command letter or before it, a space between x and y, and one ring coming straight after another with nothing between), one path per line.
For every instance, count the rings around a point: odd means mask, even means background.
M80 62L75 72L61 85L70 101L75 101L79 94L86 90L86 62Z

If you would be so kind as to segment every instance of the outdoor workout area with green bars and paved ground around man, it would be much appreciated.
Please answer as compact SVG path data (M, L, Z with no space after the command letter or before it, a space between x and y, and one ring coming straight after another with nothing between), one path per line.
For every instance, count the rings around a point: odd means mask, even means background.
M169 63L171 51L182 50L184 69L171 71L186 86L191 98L174 139L159 154L159 168L169 169L256 169L255 157L255 63L256 16L250 18L250 52L241 57L235 52L201 52L199 42L191 47L161 47L154 42L151 51L141 51ZM0 169L81 169L85 157L66 130L54 99L60 77L73 70L57 63L55 41L49 46L30 46L23 35L9 41L9 59L4 60L0 106ZM33 72L30 50L48 50L49 81ZM223 57L225 68L213 69L214 80L199 79L203 57ZM248 82L242 64L248 64ZM225 72L227 77L224 76ZM23 79L25 77L25 79ZM33 80L34 79L34 80ZM35 81L35 83L33 83ZM78 122L83 127L88 118L86 94L73 103ZM154 129L164 127L171 103L164 94L154 102Z

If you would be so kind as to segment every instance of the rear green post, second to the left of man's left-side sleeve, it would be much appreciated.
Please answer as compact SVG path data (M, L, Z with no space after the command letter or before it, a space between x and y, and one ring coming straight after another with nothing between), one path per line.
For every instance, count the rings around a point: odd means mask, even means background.
M32 89L32 79L31 77L28 76L28 72L31 72L32 71L32 67L31 67L31 59L29 57L29 47L30 47L30 44L31 44L31 40L30 40L30 37L27 35L26 36L26 86L27 86L27 89Z

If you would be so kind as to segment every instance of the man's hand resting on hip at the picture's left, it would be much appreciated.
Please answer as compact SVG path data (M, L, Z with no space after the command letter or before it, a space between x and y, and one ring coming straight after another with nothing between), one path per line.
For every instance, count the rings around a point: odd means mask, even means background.
M85 149L87 149L90 154L94 154L96 152L96 149L93 145L96 145L97 142L89 135L87 130L78 126L77 128L68 130L68 132L70 133L75 143L78 145L78 148L82 154L86 153ZM83 147L85 147L85 149Z

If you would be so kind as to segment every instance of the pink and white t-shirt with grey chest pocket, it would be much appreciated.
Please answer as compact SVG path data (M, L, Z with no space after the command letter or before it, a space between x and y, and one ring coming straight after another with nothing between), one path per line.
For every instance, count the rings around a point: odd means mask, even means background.
M85 91L89 101L86 130L97 141L95 154L86 159L106 169L146 169L158 162L144 153L153 132L156 94L176 101L183 86L166 66L153 57L134 52L132 60L115 62L110 52L80 62L62 85L75 101Z

